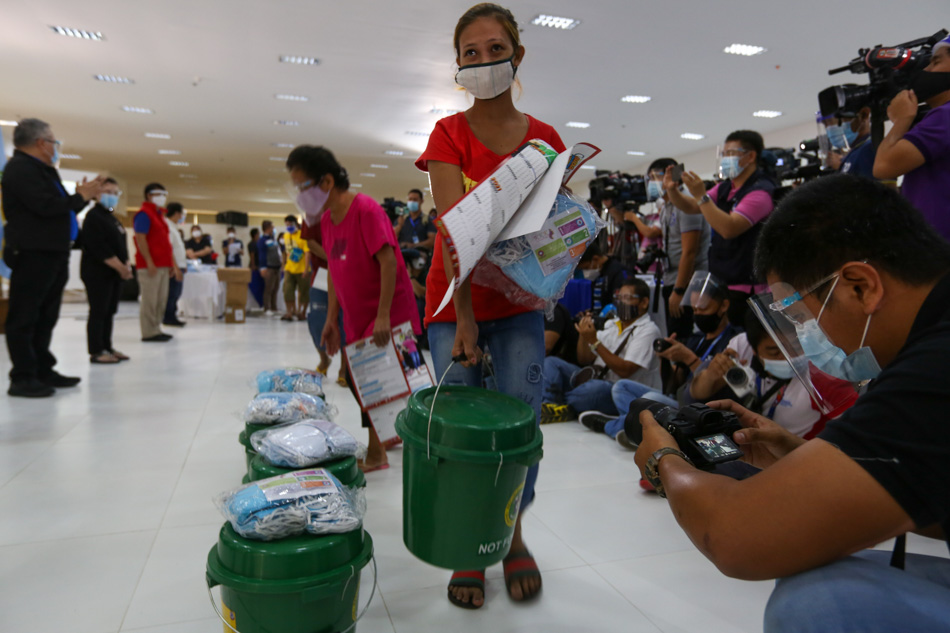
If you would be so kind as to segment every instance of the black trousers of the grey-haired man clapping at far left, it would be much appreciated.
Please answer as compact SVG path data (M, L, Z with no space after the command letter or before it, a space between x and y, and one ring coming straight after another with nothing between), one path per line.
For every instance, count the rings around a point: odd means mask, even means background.
M12 263L6 324L10 380L44 378L56 365L49 346L69 279L69 253L20 251Z

